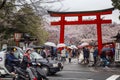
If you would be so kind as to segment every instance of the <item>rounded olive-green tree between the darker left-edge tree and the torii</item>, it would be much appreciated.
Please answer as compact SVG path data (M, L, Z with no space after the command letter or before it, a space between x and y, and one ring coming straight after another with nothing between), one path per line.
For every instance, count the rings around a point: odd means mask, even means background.
M14 26L22 27L19 28L22 32L30 33L36 36L40 43L44 43L47 39L47 32L42 26L42 20L36 16L31 7L24 7L18 11Z

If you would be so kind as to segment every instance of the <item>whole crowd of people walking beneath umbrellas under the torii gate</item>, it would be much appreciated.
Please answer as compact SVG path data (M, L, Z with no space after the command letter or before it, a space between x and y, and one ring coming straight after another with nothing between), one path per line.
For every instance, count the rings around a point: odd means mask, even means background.
M89 62L92 61L92 66L101 64L103 67L106 67L109 66L110 63L114 62L115 48L112 44L104 45L101 51L98 51L97 46L89 45L82 48L45 47L40 50L39 53L43 58L51 57L51 59L61 60L63 63L67 59L68 62L71 63L72 58L77 58L80 64L89 64Z

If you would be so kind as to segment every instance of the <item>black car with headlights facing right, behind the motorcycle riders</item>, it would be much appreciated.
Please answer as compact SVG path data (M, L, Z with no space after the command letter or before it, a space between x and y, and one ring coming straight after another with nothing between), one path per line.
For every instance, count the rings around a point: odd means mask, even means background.
M41 68L45 71L46 74L55 74L63 69L63 64L61 62L45 59L37 52L32 52L31 58L33 61L37 59L37 61L40 62Z

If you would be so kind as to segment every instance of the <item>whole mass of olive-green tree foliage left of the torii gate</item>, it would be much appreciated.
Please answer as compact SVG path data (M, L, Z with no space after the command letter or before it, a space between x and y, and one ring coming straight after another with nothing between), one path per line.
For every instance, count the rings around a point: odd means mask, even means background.
M25 5L17 10L14 3L15 0L11 0L0 9L0 34L2 34L0 37L8 39L15 32L30 33L37 37L40 44L44 43L48 33L42 26L42 19L33 12L30 6Z

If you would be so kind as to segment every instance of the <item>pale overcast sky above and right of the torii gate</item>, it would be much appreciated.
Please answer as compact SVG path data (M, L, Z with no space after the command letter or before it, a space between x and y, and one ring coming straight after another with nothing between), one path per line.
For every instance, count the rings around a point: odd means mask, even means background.
M111 0L62 0L62 2L43 4L43 6L52 6L49 10L64 12L102 10L113 7ZM105 16L105 18L120 23L119 15L119 11L114 10L112 15Z

